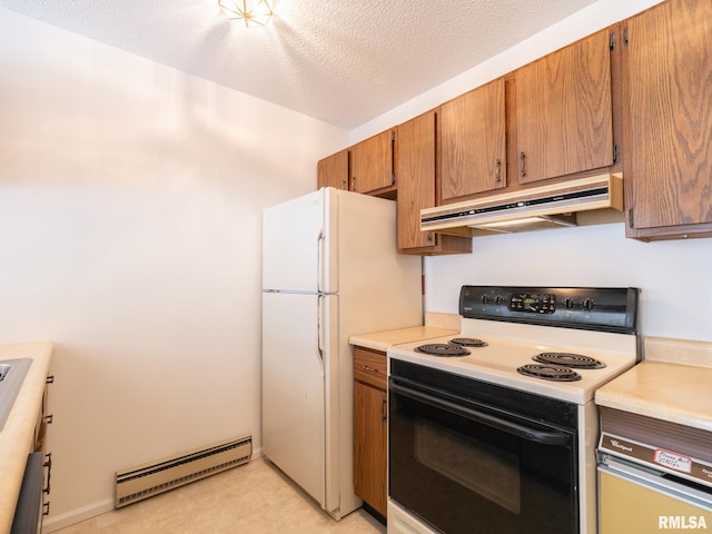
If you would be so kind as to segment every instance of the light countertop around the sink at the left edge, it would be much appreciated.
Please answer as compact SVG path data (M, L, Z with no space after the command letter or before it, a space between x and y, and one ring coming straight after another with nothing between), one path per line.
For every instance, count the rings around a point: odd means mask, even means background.
M0 533L10 532L24 464L33 448L34 427L52 357L50 342L0 345L0 359L31 358L22 387L0 431Z

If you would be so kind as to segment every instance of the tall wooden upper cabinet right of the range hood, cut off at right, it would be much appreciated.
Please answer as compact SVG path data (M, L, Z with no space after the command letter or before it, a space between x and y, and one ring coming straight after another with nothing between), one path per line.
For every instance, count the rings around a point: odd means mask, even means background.
M629 237L712 235L712 2L627 21L624 177Z

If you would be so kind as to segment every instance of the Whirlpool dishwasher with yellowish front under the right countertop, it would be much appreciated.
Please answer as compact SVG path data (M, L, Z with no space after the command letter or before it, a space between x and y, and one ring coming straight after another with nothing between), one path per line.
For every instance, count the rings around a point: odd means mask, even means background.
M600 534L712 530L712 432L601 407Z

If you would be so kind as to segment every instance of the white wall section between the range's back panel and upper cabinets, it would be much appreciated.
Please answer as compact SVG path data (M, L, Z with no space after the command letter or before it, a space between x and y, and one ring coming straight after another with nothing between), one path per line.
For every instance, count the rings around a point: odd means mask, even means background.
M475 237L469 255L426 258L427 310L456 314L464 284L640 287L643 335L712 342L712 241L624 234L620 222Z

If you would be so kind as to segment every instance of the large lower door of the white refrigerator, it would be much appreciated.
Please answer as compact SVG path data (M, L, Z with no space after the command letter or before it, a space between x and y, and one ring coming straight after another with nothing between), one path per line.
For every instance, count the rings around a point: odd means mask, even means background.
M324 507L325 367L319 297L263 294L263 451Z

